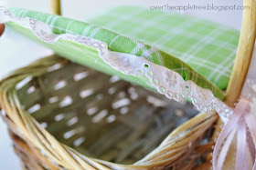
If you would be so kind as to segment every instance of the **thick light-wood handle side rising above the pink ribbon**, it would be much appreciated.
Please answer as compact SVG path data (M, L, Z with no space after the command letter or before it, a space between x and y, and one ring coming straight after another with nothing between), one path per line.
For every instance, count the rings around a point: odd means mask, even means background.
M244 0L243 5L250 6L250 9L243 11L240 42L226 93L225 103L229 106L234 106L240 97L255 44L256 2Z

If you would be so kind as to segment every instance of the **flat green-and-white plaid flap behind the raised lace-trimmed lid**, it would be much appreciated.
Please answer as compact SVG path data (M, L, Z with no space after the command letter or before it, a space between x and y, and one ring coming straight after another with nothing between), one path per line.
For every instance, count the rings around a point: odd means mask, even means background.
M237 30L135 6L114 8L89 22L176 56L221 89L229 83L240 37Z

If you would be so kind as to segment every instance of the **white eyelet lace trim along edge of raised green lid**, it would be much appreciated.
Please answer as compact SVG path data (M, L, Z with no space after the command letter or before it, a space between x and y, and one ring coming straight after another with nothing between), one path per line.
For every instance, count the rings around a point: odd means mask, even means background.
M112 65L114 69L126 75L145 75L160 94L176 101L185 100L188 97L198 111L207 113L215 109L224 122L227 122L229 115L232 114L232 109L216 98L210 90L196 85L191 80L185 81L175 71L162 65L155 65L144 57L113 52L105 43L90 37L71 34L56 35L47 24L31 18L18 18L4 7L0 7L0 23L6 22L15 22L27 27L40 40L49 44L64 39L93 47L98 50L103 61Z

